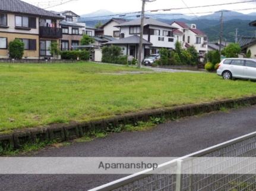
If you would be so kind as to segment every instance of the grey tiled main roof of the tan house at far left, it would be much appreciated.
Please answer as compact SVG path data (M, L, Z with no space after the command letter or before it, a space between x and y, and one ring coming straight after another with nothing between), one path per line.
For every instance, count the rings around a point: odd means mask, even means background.
M56 15L53 12L46 11L45 9L27 4L20 0L0 0L0 11L63 19L63 17Z

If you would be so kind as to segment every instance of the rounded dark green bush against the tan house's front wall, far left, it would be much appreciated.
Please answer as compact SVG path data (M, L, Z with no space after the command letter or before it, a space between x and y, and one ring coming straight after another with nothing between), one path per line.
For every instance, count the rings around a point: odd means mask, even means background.
M16 38L9 44L9 54L11 59L22 59L24 54L24 43Z

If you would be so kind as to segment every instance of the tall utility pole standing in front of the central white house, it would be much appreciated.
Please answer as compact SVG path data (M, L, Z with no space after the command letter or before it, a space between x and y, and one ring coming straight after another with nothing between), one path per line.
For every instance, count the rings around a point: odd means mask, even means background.
M156 0L142 0L141 10L141 24L140 24L140 46L138 48L138 68L141 68L142 63L142 51L143 51L143 30L144 30L144 18L145 18L145 4L146 2L153 2Z

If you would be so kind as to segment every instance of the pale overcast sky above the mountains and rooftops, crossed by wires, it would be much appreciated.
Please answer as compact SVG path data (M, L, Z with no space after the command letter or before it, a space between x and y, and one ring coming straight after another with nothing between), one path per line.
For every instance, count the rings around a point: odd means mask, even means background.
M23 0L34 5L40 5L39 7L45 8L49 5L56 4L61 2L61 0ZM67 0L62 0L67 1ZM228 2L241 2L248 0L215 0L215 1L206 1L206 0L184 0L185 3L189 6L198 6L198 5L212 5L212 4L222 4ZM155 2L147 3L146 9L167 9L167 8L180 8L185 7L182 0L156 0ZM236 5L226 5L219 7L210 7L210 8L196 8L191 9L192 12L206 12L206 11L219 11L220 9L245 9L245 8L256 8L256 2L250 2L246 4L236 4ZM140 11L141 9L141 0L75 0L69 2L65 5L61 5L54 8L49 8L49 10L54 11L64 11L71 10L77 14L88 14L90 12L97 11L99 9L107 9L112 12L129 12L129 11ZM170 11L169 13L181 12L187 14L188 9L179 10L179 11ZM248 11L239 11L244 13L256 12L254 10Z

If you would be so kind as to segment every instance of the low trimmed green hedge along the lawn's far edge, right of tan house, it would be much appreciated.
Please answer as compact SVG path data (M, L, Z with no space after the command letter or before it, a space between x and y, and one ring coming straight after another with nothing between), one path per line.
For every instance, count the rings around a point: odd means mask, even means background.
M62 51L61 52L61 59L64 60L89 60L90 53L87 50L72 50L72 51Z

